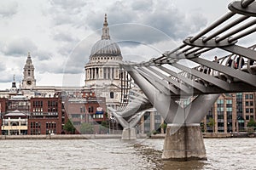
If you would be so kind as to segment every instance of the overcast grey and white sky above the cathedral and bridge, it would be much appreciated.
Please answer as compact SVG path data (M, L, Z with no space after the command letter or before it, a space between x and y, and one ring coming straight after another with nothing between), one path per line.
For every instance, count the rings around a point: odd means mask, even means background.
M0 2L0 89L13 75L22 81L31 52L37 85L63 83L63 74L84 85L84 64L101 38L108 14L111 38L124 60L158 57L228 12L224 0L2 0ZM75 82L75 83L74 83Z

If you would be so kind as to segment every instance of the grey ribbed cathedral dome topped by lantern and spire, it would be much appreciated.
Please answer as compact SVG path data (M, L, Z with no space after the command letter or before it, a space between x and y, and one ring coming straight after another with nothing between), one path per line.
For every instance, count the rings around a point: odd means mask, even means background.
M107 14L105 14L105 21L102 28L102 39L97 41L91 48L90 56L119 56L121 50L116 42L113 42L109 36L109 28L107 21Z

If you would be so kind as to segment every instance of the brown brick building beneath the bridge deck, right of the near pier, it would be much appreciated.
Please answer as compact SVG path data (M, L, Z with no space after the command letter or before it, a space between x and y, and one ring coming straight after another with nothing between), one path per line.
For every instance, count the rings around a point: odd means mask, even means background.
M221 94L212 105L211 111L202 120L202 128L207 133L230 133L247 130L247 122L255 121L255 94ZM214 126L209 126L213 120Z

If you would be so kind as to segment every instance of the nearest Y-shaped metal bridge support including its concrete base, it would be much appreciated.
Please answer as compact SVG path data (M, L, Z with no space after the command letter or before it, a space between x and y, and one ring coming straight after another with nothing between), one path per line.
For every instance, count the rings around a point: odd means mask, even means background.
M166 88L159 88L159 83L150 80L150 77L143 77L130 65L123 67L168 123L162 158L178 161L206 160L200 122L219 95L202 94L188 106L182 107L171 98Z

